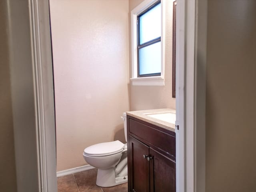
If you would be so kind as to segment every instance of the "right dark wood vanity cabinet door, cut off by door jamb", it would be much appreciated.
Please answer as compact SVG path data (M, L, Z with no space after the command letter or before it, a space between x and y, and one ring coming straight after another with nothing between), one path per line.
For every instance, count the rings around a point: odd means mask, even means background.
M150 192L176 192L176 163L150 148Z

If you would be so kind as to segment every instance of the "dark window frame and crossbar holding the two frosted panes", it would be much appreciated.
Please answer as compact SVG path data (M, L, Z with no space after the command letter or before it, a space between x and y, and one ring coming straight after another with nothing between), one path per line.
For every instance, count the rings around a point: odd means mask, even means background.
M150 46L152 44L161 42L161 36L160 36L160 37L154 38L154 39L152 39L148 42L144 42L144 43L140 44L140 17L142 15L146 14L147 12L149 12L150 10L152 10L153 8L155 8L156 6L158 6L160 3L161 3L161 0L157 0L154 4L152 4L151 6L146 8L143 12L141 12L140 14L137 15L137 77L138 78L140 78L140 77L161 76L161 72L160 73L150 73L150 74L140 75L140 49L144 48L144 47L147 47L147 46Z

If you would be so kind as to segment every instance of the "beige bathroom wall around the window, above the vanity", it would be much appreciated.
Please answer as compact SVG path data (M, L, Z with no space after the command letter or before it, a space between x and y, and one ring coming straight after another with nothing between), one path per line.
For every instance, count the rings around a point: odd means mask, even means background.
M131 42L130 12L143 0L129 0L129 36ZM172 98L172 0L164 0L166 4L166 58L165 86L132 86L130 85L130 109L144 110L156 108L176 108L175 98ZM131 45L131 43L130 43ZM129 48L131 50L131 47ZM130 53L130 78L131 73Z

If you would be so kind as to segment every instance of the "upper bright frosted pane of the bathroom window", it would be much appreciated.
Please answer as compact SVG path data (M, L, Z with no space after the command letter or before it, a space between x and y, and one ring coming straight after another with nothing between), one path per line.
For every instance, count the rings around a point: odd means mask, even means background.
M140 16L140 44L161 36L161 4Z

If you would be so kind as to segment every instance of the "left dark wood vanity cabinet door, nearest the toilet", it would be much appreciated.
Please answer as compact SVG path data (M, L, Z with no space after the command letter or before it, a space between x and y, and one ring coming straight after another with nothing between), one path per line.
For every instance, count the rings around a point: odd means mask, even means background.
M149 154L149 147L129 136L130 146L130 190L132 192L149 192L149 163L143 155Z

